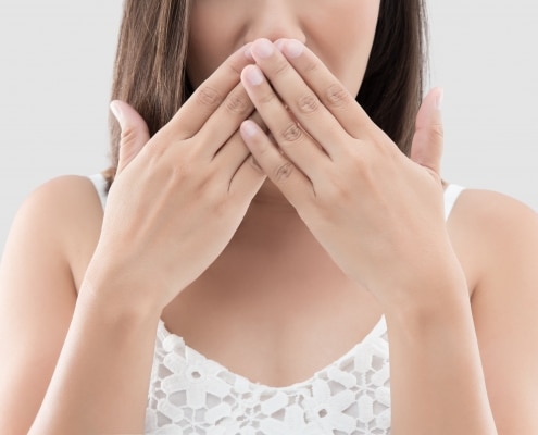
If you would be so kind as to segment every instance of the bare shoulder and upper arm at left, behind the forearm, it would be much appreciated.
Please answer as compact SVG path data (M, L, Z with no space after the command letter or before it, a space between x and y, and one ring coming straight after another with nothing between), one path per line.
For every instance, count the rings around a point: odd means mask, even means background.
M57 222L64 223L62 216L68 220L70 215L62 213L62 204L71 203L70 194L77 190L63 188L65 183L66 179L49 183L26 200L4 247L0 265L2 434L27 433L73 314L76 290L61 239L52 231ZM65 202L58 200L60 191ZM50 206L59 213L51 213Z

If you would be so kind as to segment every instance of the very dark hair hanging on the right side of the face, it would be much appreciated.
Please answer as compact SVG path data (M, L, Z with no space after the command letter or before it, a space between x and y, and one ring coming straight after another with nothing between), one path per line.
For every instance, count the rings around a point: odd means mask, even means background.
M425 0L381 0L356 101L406 156L428 67Z

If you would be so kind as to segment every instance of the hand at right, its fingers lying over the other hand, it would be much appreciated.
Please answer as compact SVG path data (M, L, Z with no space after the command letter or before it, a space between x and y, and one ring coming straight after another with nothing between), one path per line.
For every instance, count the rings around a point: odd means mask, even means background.
M442 91L425 98L409 159L308 48L277 45L257 40L241 75L273 136L246 121L251 153L349 277L387 308L435 303L462 277L439 175Z

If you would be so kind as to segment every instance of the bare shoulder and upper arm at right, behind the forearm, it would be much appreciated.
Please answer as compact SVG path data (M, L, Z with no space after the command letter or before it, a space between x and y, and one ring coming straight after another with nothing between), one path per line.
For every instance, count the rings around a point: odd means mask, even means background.
M473 269L473 318L499 434L538 433L538 214L505 195L465 190L449 221Z

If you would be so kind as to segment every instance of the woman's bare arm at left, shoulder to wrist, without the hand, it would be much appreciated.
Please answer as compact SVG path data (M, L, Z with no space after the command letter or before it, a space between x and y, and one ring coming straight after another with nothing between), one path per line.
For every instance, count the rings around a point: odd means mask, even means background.
M2 434L28 433L40 408L40 420L30 433L79 433L68 428L80 427L82 414L76 410L80 403L88 414L98 406L116 410L121 403L129 420L138 424L138 432L143 427L139 424L143 419L154 327L143 324L146 319L133 315L123 321L123 326L130 322L132 330L121 330L115 318L103 315L113 314L113 310L96 313L92 310L97 307L76 301L70 259L76 258L79 250L95 247L100 209L87 179L62 177L35 191L17 213L0 270L0 353L7 356L0 359ZM84 239L80 232L86 234ZM126 340L134 333L138 333L136 340ZM64 345L66 335L72 343ZM68 349L64 355L74 364L55 369L62 348ZM129 357L134 364L127 363ZM97 368L108 378L97 380ZM68 391L61 391L41 407L54 370L53 385L70 385ZM138 382L125 382L129 377ZM76 380L86 385L75 385ZM48 395L54 397L51 391ZM62 424L48 425L47 420L55 414L64 415L55 419ZM117 421L117 417L99 415L98 421L107 420Z

